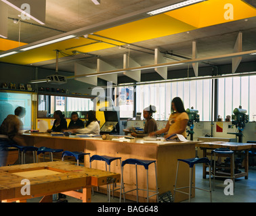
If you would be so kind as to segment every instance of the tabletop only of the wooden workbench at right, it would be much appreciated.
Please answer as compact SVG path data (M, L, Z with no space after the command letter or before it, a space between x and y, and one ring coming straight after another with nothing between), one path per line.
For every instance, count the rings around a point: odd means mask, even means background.
M230 148L232 151L256 148L256 144L242 142L199 142L196 146L200 148Z

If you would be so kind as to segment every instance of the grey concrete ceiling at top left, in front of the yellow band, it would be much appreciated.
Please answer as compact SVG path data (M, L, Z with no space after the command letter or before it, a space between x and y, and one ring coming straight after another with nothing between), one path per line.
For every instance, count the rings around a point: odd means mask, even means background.
M46 0L45 25L41 26L34 20L22 20L20 41L33 43L61 32L69 32L92 24L118 18L146 7L160 3L177 0L102 0L100 5L95 5L91 0ZM8 39L18 41L19 24L14 24L13 19L20 19L16 9L8 7ZM31 23L33 25L31 25Z

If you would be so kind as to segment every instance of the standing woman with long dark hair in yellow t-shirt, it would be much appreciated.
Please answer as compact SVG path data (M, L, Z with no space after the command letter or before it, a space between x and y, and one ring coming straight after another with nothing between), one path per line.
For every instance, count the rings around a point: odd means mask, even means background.
M189 117L184 109L182 99L175 97L173 101L171 101L171 112L172 113L165 128L150 133L150 136L156 136L157 134L165 134L168 132L165 138L168 138L173 134L182 134L186 138L186 127L188 126Z

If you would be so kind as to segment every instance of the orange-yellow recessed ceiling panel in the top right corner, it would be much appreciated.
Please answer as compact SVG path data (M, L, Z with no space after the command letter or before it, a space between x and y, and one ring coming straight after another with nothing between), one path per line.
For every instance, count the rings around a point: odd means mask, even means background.
M254 17L256 9L241 0L209 0L165 14L196 28L204 28Z

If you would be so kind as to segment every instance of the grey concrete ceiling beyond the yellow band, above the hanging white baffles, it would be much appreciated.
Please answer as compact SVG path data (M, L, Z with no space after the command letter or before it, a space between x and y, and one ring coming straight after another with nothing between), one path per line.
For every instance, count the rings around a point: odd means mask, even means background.
M197 30L192 30L190 32L182 32L179 34L173 34L169 36L164 36L161 38L154 38L148 41L142 41L139 43L134 43L133 45L144 47L145 49L133 47L130 45L131 49L136 49L137 51L130 50L126 45L127 49L120 47L113 47L109 49L103 49L100 51L92 52L94 55L100 55L100 58L116 68L123 67L123 54L129 53L130 57L133 58L140 65L152 65L154 64L154 49L158 48L160 51L168 51L169 53L175 55L181 55L184 57L192 58L192 41L196 41L198 49L198 57L210 57L222 54L232 53L234 45L236 43L236 38L238 32L242 32L242 51L250 51L256 49L256 18L249 18L247 21L238 20L226 24L219 24L217 26L209 26L206 28L200 28ZM150 51L151 49L152 51ZM145 52L145 53L144 53ZM151 53L151 54L149 54ZM165 55L167 61L184 60L183 58L171 55ZM73 57L70 61L70 57L65 59L60 59L59 69L74 72L74 62L86 65L88 68L96 69L96 58L84 59L83 55L77 55ZM242 58L244 61L255 61L256 57L253 55L248 55ZM212 60L207 63L213 65L230 64L232 59L218 59ZM200 66L208 66L207 63L200 63ZM53 69L55 68L55 61L45 61L41 63L35 63L39 67ZM191 65L190 65L191 67ZM188 68L188 65L177 65L172 66L169 70L179 70ZM153 72L153 70L145 70L142 73Z

